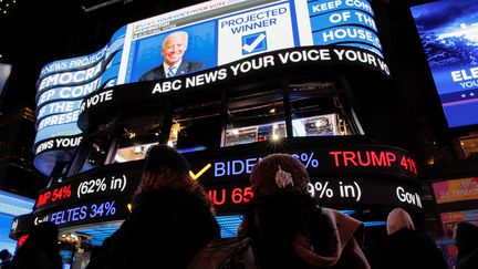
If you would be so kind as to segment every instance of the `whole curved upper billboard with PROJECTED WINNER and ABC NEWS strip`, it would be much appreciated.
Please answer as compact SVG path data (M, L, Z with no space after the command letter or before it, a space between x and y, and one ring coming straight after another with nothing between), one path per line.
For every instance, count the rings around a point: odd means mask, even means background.
M214 0L129 23L97 52L42 69L34 164L49 174L43 163L58 156L59 145L61 151L77 146L79 114L112 100L112 86L165 81L169 90L200 90L197 85L249 70L298 62L361 64L388 75L370 1ZM153 93L166 90L159 84ZM85 102L93 92L98 94Z

